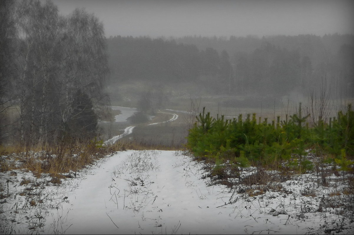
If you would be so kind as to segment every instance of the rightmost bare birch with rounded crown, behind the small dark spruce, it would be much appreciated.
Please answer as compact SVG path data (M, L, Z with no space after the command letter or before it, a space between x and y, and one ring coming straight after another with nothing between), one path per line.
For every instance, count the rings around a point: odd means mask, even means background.
M65 61L63 62L63 95L61 99L62 123L80 116L73 115L75 94L88 95L98 116L108 97L102 94L104 79L108 73L106 39L102 22L84 9L75 9L65 22ZM78 109L76 109L78 110ZM101 112L100 112L101 111ZM72 121L72 120L71 120Z

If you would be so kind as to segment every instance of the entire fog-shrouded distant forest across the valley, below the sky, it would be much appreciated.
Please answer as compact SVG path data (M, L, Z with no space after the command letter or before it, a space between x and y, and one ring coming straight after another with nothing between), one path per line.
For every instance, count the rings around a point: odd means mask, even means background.
M210 94L283 96L326 82L354 90L354 35L107 39L110 83L193 82Z

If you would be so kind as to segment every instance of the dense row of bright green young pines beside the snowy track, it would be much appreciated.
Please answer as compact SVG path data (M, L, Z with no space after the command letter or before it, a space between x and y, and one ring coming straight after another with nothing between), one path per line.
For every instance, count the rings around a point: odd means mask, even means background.
M334 163L348 170L354 156L354 111L351 104L346 112L338 112L328 123L319 120L314 126L306 121L301 103L297 114L285 120L269 123L256 114L242 114L233 120L222 115L212 118L203 112L189 129L187 147L200 160L220 165L263 166L269 169L289 169L299 173L313 169L305 156L308 150L320 157L322 163Z

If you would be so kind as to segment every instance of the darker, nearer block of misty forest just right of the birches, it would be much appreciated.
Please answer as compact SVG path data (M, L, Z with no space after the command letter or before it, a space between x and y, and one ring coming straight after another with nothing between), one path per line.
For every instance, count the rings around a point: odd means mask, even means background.
M153 82L196 81L201 76L230 76L229 55L221 55L212 48L200 51L193 44L149 37L121 37L107 39L110 82L150 80ZM210 81L212 82L212 81Z

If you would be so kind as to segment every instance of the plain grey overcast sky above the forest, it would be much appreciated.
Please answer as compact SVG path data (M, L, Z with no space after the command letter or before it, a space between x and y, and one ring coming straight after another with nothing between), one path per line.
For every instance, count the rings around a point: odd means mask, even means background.
M106 36L179 37L353 34L353 0L53 0L85 7Z

